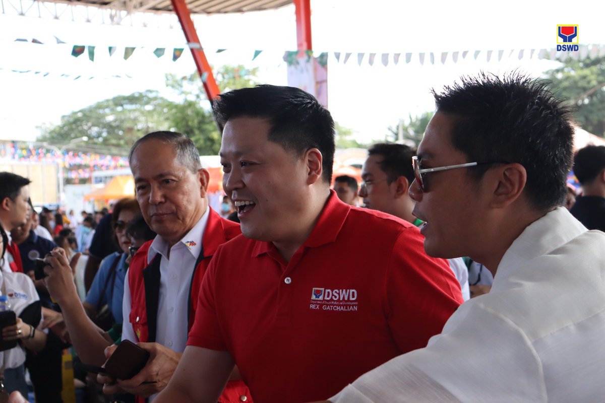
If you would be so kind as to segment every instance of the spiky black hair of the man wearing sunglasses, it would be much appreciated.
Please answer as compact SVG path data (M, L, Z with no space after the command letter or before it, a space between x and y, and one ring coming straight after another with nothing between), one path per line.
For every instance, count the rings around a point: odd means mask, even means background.
M572 162L574 127L566 100L548 82L520 73L462 77L433 90L437 112L455 118L453 146L468 162L506 161L525 167L525 195L539 210L563 204ZM488 164L469 169L479 179Z

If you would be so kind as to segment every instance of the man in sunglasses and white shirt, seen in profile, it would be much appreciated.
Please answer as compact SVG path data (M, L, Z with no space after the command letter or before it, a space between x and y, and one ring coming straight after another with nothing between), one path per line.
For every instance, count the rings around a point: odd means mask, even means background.
M366 373L333 403L597 402L605 396L605 234L566 208L571 112L520 74L434 93L410 195L431 256L494 273L428 346Z

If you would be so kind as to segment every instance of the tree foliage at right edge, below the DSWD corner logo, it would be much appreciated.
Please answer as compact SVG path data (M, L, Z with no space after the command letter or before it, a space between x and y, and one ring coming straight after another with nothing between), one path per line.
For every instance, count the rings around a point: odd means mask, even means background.
M575 120L586 131L605 137L605 57L566 59L546 77L576 109Z

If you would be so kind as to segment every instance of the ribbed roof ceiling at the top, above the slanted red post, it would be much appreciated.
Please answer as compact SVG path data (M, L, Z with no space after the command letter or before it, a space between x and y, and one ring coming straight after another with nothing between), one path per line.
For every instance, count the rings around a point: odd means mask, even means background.
M269 10L291 4L292 0L186 0L186 3L192 14L221 14ZM170 0L73 0L70 4L94 5L135 12L172 12Z

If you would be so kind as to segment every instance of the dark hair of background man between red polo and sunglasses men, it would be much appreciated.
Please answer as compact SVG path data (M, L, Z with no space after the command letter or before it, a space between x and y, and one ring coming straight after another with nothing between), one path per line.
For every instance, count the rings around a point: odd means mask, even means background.
M416 155L416 149L405 144L376 143L368 149L368 155L382 156L380 169L387 174L388 183L399 176L405 176L410 184L414 181L412 157Z

